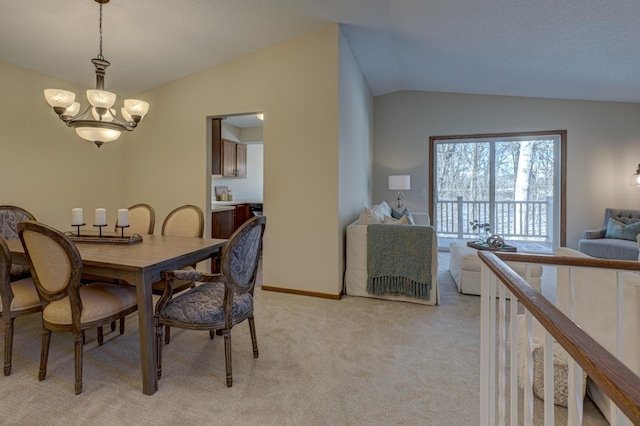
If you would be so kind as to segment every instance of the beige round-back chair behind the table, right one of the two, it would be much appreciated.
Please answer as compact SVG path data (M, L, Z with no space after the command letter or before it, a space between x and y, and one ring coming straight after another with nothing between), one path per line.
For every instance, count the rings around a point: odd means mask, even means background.
M204 235L204 214L198 206L186 204L173 210L167 215L162 223L162 235L172 235L175 237L196 237L202 238ZM196 265L184 268L187 271L193 271ZM173 290L175 293L184 291L195 286L193 280L174 280ZM164 280L160 280L153 284L152 291L156 295L164 292ZM165 329L165 343L171 341L171 329L169 326Z

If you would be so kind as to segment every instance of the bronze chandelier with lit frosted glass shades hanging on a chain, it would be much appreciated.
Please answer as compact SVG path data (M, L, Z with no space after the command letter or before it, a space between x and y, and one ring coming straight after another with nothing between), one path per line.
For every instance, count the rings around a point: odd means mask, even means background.
M137 99L125 99L121 109L123 120L116 116L113 104L115 93L104 90L105 70L110 65L102 56L102 5L109 0L95 0L100 4L100 53L91 62L96 67L96 88L87 90L89 106L80 111L80 104L75 102L76 94L62 89L46 89L44 97L53 110L67 126L76 129L82 139L95 143L98 148L103 143L113 142L126 131L132 131L149 111L149 104Z

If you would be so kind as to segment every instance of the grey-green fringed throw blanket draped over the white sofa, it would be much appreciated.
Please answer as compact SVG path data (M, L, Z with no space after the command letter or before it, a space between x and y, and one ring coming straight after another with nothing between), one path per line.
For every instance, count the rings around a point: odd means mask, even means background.
M429 300L433 236L430 226L368 225L367 293Z

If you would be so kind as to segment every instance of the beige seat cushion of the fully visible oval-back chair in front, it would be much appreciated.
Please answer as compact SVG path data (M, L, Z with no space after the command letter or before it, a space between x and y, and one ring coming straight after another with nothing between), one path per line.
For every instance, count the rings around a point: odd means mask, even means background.
M82 299L81 323L98 321L136 306L136 288L126 285L92 283L80 287ZM70 325L71 304L69 298L56 300L45 306L42 319L58 325Z

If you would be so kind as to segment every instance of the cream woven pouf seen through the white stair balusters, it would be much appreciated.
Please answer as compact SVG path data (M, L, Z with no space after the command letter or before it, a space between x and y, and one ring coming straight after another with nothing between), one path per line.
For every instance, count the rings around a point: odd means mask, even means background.
M553 349L553 403L566 407L569 399L569 365L567 352L557 343ZM533 393L544 399L544 348L533 350ZM587 375L582 373L582 398L587 392Z

